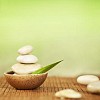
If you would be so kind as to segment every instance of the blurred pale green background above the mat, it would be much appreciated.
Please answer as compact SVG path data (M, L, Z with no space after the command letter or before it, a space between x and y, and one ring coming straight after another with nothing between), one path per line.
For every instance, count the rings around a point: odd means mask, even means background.
M0 75L28 44L42 65L64 59L49 75L99 74L100 1L0 0Z

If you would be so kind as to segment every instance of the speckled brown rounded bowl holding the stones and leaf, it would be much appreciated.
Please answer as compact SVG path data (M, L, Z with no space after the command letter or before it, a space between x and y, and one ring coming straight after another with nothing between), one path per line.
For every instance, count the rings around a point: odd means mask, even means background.
M13 71L4 73L7 82L16 89L35 89L39 87L45 79L48 73L43 74L27 74L27 75L15 75Z

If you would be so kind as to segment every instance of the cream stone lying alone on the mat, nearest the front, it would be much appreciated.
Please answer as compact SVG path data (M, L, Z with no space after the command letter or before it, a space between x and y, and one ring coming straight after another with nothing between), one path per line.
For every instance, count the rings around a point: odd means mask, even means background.
M56 97L60 98L81 98L82 95L73 89L64 89L55 93Z

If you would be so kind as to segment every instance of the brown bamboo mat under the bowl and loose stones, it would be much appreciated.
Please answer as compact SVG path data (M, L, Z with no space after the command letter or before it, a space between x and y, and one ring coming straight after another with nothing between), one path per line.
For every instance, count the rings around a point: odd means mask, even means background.
M0 77L0 100L61 100L54 94L66 88L79 91L82 98L78 100L100 100L99 94L88 93L86 86L78 84L76 78L65 77L48 77L44 84L35 90L16 90L6 82L4 77Z

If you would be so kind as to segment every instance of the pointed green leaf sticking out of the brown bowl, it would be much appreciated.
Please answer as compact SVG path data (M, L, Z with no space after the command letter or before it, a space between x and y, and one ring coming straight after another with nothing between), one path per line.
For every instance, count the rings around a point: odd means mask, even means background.
M56 66L57 64L59 64L60 62L62 62L63 60L61 61L58 61L56 63L53 63L53 64L50 64L50 65L47 65L45 67L42 67L34 72L32 72L32 74L41 74L41 73L45 73L47 71L49 71L51 68L53 68L54 66Z

